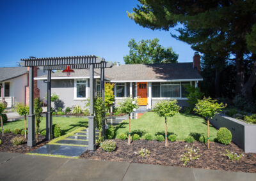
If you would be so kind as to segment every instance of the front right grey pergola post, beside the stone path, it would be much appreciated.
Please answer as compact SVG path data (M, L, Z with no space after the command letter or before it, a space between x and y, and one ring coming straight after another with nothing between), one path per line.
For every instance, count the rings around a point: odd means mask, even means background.
M94 64L90 64L90 116L89 119L89 144L88 150L95 150L95 117L93 111L93 101L94 101Z

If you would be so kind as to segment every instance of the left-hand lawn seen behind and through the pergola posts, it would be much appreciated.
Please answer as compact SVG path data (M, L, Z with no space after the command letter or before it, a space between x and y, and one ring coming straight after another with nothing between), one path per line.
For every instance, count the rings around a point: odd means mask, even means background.
M61 127L63 133L66 134L74 131L79 127L87 127L88 119L77 117L52 117L52 124L58 124ZM40 122L40 129L45 129L45 127L46 120L45 117L42 117L42 121ZM11 130L15 128L24 129L24 119L4 123L4 129L6 128L10 128Z

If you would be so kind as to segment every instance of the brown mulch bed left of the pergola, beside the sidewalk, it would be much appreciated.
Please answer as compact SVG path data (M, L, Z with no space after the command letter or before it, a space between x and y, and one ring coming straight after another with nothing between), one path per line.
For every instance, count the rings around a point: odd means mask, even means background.
M42 147L46 143L49 142L49 140L45 140L45 136L40 135L39 142L36 143L36 146L31 148L28 147L27 142L23 143L22 145L12 145L12 138L15 136L21 136L21 134L13 134L13 133L4 133L4 136L0 136L0 139L2 140L2 144L0 145L0 152L15 152L20 154L28 153L32 150L35 150L36 148Z

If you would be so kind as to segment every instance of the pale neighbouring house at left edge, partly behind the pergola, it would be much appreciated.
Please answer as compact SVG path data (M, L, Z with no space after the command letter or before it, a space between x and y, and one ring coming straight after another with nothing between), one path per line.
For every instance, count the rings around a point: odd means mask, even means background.
M28 105L28 74L26 67L0 68L0 102L7 103L7 108L12 108L17 102ZM34 74L45 75L44 71L38 68L34 69ZM34 85L35 97L46 94L46 83L35 81Z

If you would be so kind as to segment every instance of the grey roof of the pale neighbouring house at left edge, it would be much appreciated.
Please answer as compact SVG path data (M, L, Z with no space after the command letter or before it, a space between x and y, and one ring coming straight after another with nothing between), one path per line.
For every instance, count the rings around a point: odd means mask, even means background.
M0 68L0 82L28 73L26 67Z

